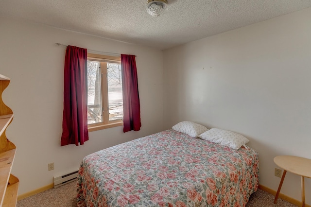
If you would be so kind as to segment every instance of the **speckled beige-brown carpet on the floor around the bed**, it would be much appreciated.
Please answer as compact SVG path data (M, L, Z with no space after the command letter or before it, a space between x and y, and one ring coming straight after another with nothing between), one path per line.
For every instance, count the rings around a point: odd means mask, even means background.
M296 207L282 199L273 204L274 196L258 190L250 197L246 207ZM17 202L17 207L76 207L76 182L46 190Z

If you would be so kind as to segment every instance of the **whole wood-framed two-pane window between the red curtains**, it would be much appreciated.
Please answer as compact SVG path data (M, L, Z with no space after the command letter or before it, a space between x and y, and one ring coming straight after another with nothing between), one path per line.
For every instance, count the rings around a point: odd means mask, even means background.
M87 124L88 131L123 124L120 57L87 54Z

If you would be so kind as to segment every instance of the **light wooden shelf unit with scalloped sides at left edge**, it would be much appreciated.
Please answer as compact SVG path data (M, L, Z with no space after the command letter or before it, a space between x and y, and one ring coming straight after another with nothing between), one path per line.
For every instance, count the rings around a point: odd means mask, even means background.
M12 110L2 101L2 92L10 79L0 74L0 207L15 207L17 202L18 178L11 174L16 146L10 142L5 131L13 120Z

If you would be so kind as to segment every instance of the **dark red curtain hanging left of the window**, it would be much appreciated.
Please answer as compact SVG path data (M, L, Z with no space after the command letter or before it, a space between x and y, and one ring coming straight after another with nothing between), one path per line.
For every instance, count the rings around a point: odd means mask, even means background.
M64 68L64 111L61 146L79 145L88 140L87 51L68 46Z

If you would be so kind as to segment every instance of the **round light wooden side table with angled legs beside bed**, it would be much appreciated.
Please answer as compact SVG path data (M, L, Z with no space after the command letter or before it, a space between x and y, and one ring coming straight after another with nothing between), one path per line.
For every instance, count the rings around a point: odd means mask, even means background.
M278 194L280 193L286 172L288 171L301 176L302 207L305 207L305 177L311 178L311 159L299 156L282 155L276 156L273 160L278 167L284 169L280 184L276 192L276 198L274 199L273 203L276 204L277 202Z

